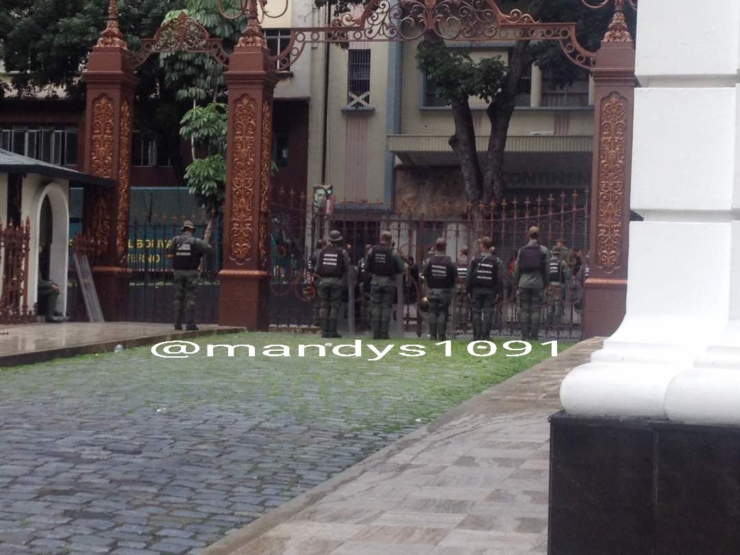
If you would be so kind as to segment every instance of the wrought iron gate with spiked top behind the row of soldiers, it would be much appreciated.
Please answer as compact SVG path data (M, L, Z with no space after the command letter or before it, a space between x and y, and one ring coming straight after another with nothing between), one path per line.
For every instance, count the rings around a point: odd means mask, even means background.
M276 212L277 213L277 212ZM284 219L283 227L295 225L295 219ZM560 295L554 289L546 297L542 307L543 332L547 337L577 339L581 337L582 281L588 264L589 198L586 192L561 192L530 198L510 198L501 203L479 204L431 204L425 212L417 211L415 206L399 203L395 212L383 210L366 202L340 203L332 214L325 209L314 211L304 219L311 232L312 249L295 252L278 274L273 274L271 300L271 322L282 329L302 331L312 329L316 320L314 291L310 277L306 275L306 261L315 248L316 238L326 235L329 229L337 229L343 235L343 242L349 252L351 262L356 265L363 257L365 246L377 243L381 229L388 229L394 237L394 244L406 261L403 276L404 304L394 314L403 318L403 328L407 332L425 333L424 317L417 309L423 296L419 272L423 260L427 258L434 241L443 236L448 243L448 255L460 258L463 247L468 254L477 253L477 240L484 235L494 239L497 256L502 260L503 291L497 305L494 333L515 336L519 333L518 307L513 286L514 260L518 249L526 243L526 232L531 226L539 226L540 242L554 246L562 240L568 251L571 270ZM293 224L291 224L293 222ZM306 226L297 226L296 233ZM580 254L576 254L580 251ZM460 260L463 262L464 260ZM356 329L369 326L369 291L354 284L354 322ZM559 297L559 300L558 300ZM345 296L345 303L349 295ZM343 318L349 320L350 307L344 305ZM454 334L471 332L470 305L462 286L456 288L452 317Z

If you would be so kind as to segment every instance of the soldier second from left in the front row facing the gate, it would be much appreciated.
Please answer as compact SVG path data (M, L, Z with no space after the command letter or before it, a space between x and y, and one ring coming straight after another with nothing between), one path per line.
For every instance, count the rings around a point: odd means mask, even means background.
M380 234L380 244L370 249L365 267L370 279L373 339L390 339L391 312L396 299L396 276L403 272L403 260L391 246L391 232Z

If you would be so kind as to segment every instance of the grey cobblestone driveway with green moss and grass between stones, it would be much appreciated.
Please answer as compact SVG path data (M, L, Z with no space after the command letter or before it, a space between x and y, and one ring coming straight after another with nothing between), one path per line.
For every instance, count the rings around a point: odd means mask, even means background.
M248 342L299 341L218 339ZM0 554L195 551L549 350L440 366L141 348L0 371Z

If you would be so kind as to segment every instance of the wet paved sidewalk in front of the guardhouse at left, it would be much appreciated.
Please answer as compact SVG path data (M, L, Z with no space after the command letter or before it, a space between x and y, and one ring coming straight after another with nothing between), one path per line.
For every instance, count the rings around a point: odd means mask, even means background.
M238 332L238 328L201 325L198 332L175 332L172 324L137 322L32 323L0 328L0 368L40 363L124 347L149 345L202 334Z

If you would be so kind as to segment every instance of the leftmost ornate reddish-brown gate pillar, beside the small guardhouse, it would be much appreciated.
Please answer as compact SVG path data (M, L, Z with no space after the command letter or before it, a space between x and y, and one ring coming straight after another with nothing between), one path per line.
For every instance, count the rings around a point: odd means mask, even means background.
M115 189L87 191L84 236L106 320L122 320L128 294L127 248L133 96L138 82L118 29L118 2L83 73L87 87L84 170L116 180Z

